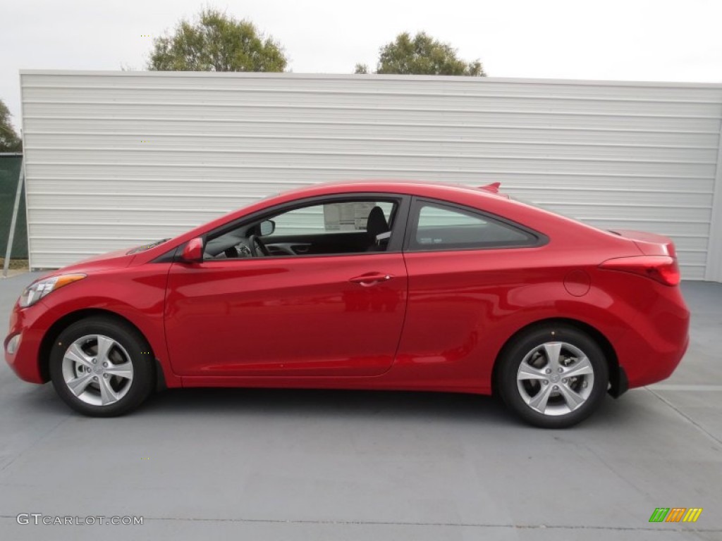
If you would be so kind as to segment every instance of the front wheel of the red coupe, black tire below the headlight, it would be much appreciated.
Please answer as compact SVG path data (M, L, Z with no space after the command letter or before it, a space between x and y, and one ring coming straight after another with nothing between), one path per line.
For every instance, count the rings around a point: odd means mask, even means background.
M96 337L95 342L91 338L93 336ZM90 340L85 340L86 338ZM108 338L110 340L107 340ZM92 371L96 366L90 364L86 366L83 363L70 361L65 361L64 364L64 357L69 347L77 343L82 344L83 359L92 358L92 362L96 363L101 357L97 355L101 341L113 343L108 348L108 355L104 357L108 359L110 365L108 374L103 373L104 369L100 368L102 363L97 366L97 370L100 371L98 374ZM96 353L92 353L94 349ZM58 395L74 410L92 417L115 417L138 408L151 394L155 386L153 359L147 340L134 327L112 317L90 317L69 325L60 333L50 354L50 376ZM116 361L118 364L113 364ZM127 363L132 365L132 371L127 369ZM130 373L131 377L115 375L121 373L118 371L121 366L126 367L126 370L122 371L123 374ZM116 369L116 372L110 374L113 369ZM66 379L71 379L73 382L79 381L81 377L89 379L90 382L82 386L84 390L79 392L79 395L82 395L79 396L70 390ZM117 400L113 402L108 400L105 404L102 403L105 399L101 396L103 393L100 390L100 383L103 382L99 382L103 377L107 380L107 384L103 385L106 390L105 397L108 397L108 388L116 393L110 400L118 397ZM93 379L95 381L92 381Z

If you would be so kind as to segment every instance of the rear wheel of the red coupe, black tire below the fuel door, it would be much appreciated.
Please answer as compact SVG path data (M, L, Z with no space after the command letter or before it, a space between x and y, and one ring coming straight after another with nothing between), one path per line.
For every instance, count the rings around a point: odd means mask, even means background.
M554 356L549 353L557 351L555 344L560 344L558 364L549 362L549 357ZM586 356L588 363L579 353ZM528 373L522 374L520 367L525 359L523 372ZM599 408L609 386L604 352L589 335L567 325L544 325L522 333L505 347L499 362L496 388L502 400L523 421L540 428L567 428L583 421ZM557 368L552 370L550 366ZM587 373L564 378L567 371L574 374L573 368ZM585 400L575 405L578 397Z

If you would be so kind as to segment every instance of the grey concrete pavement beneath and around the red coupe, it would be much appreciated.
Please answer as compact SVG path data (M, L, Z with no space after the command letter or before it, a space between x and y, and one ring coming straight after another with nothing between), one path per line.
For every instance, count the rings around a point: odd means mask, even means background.
M33 277L0 281L3 338ZM3 361L0 539L722 540L722 285L683 290L692 343L674 376L566 431L489 397L406 392L174 390L84 418ZM651 524L656 507L704 511Z

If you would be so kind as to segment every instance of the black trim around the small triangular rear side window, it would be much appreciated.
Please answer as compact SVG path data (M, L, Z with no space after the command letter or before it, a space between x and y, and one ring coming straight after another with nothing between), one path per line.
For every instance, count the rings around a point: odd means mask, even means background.
M417 245L414 237L419 229L419 218L421 209L427 205L434 205L440 207L449 208L451 211L460 211L464 214L472 214L479 216L479 219L487 219L497 221L502 224L508 225L513 229L518 229L529 237L529 242L525 243L506 243L498 242L493 245L479 246L474 245L472 247L423 247L423 245ZM460 203L453 203L451 201L443 201L441 199L427 198L414 196L409 206L409 217L408 224L406 225L406 235L404 237L404 252L409 253L429 253L429 252L468 252L470 250L510 250L513 248L536 248L544 246L549 242L547 235L531 229L523 224L519 224L516 221L499 216L498 214L492 214L487 211L482 211L480 208L462 205ZM433 246L433 245L431 245ZM439 246L439 245L436 245Z

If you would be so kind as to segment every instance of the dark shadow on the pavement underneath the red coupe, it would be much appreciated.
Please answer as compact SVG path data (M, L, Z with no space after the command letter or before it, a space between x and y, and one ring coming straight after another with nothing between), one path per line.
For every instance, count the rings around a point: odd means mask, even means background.
M630 392L622 400L607 397L594 415L579 428L624 430L636 426L644 403L654 401L644 392ZM77 415L67 410L50 384L22 393L25 415ZM510 413L501 400L487 395L452 392L297 390L254 388L172 389L157 392L138 410L124 418L183 417L204 421L238 415L279 418L372 419L378 421L440 421L477 426L534 428Z

